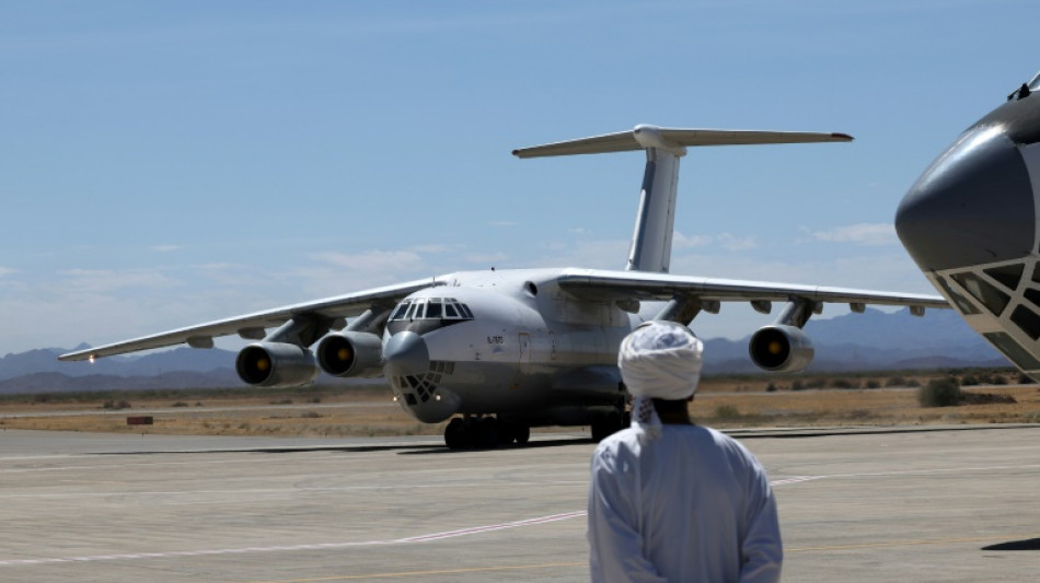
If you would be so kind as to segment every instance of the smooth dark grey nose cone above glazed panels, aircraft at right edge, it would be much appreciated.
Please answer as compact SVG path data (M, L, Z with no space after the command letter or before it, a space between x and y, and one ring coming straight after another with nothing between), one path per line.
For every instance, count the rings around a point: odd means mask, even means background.
M895 231L925 271L1015 259L1036 237L1029 171L998 127L977 127L917 178Z

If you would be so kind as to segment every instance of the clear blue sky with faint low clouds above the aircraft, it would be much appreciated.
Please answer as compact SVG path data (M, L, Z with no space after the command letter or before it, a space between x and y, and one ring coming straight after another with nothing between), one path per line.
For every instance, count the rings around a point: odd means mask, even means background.
M895 207L1040 69L1037 22L1027 0L3 0L0 353L623 268L642 154L510 151L636 124L856 137L691 149L673 272L931 293Z

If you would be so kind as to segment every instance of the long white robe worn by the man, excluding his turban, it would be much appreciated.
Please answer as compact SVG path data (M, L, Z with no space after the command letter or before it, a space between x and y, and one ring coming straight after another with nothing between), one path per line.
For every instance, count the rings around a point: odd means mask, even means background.
M697 425L638 438L617 432L592 456L592 581L778 581L776 500L754 455Z

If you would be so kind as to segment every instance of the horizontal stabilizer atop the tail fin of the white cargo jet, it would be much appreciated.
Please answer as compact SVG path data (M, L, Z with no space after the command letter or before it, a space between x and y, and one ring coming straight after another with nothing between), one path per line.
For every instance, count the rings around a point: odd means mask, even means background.
M573 154L599 154L661 148L679 155L684 147L747 145L759 143L847 142L846 133L811 131L756 131L729 129L678 129L656 126L636 126L628 131L546 143L513 150L517 158L540 158Z

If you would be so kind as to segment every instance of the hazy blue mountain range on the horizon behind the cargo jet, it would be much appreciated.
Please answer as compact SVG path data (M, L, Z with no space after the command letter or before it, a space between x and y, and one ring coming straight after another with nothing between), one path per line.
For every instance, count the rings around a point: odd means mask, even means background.
M816 347L807 372L1009 366L950 310L926 317L909 310L892 314L867 310L831 319L810 319L806 333ZM73 350L90 348L81 345ZM145 355L88 362L58 362L70 349L37 349L0 358L0 394L69 390L216 388L243 386L234 373L235 353L177 348ZM705 374L761 372L748 357L748 338L705 340ZM322 382L343 382L322 376Z

